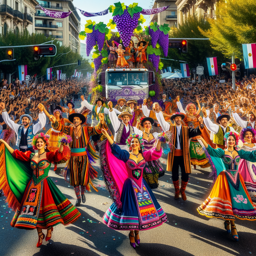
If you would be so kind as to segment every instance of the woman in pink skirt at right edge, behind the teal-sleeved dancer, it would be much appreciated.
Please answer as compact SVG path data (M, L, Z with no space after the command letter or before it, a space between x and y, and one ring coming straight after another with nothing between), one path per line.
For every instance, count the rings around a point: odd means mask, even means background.
M239 134L243 142L241 149L245 151L256 150L256 130L251 126L243 128ZM256 200L256 162L241 159L238 165L244 184L252 200Z

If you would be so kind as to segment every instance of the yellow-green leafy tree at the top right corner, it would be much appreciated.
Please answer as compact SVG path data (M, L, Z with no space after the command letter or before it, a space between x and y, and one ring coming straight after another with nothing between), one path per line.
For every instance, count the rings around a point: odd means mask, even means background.
M242 43L256 42L256 1L219 0L216 19L209 19L210 28L200 28L210 38L212 47L230 58L242 58Z

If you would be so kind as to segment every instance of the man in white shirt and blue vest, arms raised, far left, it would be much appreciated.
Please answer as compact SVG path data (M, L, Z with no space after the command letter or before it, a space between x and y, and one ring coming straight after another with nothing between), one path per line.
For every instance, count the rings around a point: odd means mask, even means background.
M40 110L38 114L39 121L35 124L29 125L33 121L32 117L28 114L23 114L19 117L19 120L22 122L22 125L20 125L9 118L5 109L5 104L3 102L0 103L2 118L4 122L17 134L16 146L18 146L19 150L22 152L28 150L34 152L32 145L33 136L45 126L46 115L43 112L43 105L40 103L37 107Z

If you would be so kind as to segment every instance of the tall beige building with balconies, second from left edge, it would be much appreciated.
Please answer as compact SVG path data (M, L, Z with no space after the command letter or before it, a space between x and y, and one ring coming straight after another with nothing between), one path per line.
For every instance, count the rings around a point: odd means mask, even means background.
M39 4L49 10L72 11L68 17L55 18L47 16L38 6L35 13L35 33L44 34L58 40L60 45L69 46L74 52L80 52L80 17L70 0L64 1L42 1Z

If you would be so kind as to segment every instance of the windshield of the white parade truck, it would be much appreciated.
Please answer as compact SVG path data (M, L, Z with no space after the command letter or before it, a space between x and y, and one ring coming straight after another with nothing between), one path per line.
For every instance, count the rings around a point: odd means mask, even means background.
M108 85L146 85L147 72L107 72Z

